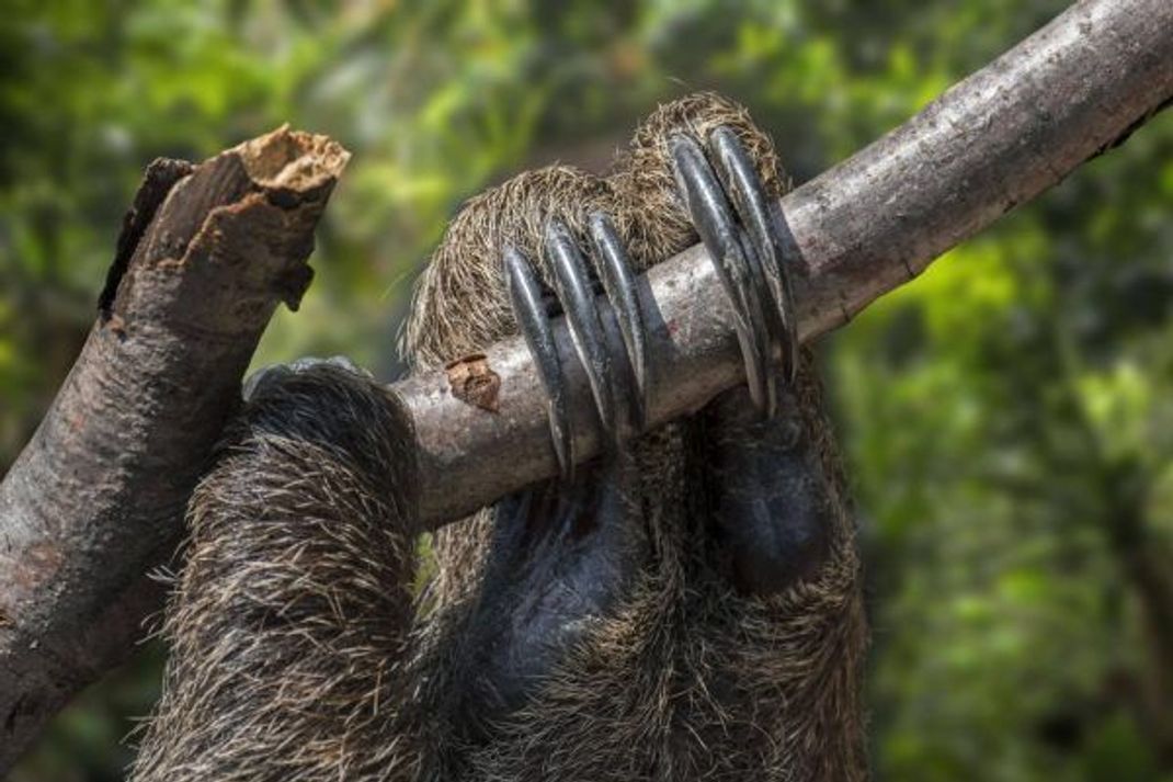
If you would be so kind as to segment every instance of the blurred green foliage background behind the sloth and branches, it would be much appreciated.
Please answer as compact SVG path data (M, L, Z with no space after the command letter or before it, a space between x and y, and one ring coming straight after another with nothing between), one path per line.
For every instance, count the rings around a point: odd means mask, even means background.
M599 169L657 102L753 110L802 182L1065 0L7 0L0 472L94 317L144 166L282 122L354 157L258 363L384 377L469 195ZM1173 780L1173 116L823 341L857 497L880 780ZM122 778L164 650L61 714L18 782Z

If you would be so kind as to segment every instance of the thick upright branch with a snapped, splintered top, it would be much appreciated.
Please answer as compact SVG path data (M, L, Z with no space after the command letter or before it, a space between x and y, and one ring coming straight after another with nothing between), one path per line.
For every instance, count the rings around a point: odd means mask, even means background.
M285 128L156 161L97 322L0 484L0 771L142 635L183 511L278 302L296 308L347 154Z

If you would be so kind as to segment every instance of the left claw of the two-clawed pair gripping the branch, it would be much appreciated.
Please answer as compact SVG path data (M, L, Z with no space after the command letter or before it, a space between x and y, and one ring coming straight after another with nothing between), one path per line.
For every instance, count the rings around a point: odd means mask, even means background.
M746 383L754 406L767 418L778 406L775 378L768 360L777 337L765 319L759 291L765 279L753 249L741 241L741 229L730 214L728 200L721 190L705 154L692 139L677 135L670 151L676 177L693 227L717 264L721 286L733 302L734 326L745 360Z

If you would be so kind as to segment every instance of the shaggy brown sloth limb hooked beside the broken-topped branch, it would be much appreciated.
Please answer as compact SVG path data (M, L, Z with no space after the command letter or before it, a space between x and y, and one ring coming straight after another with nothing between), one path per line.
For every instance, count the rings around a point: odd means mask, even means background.
M371 379L265 372L191 500L135 782L407 778L411 429Z

